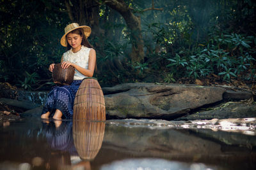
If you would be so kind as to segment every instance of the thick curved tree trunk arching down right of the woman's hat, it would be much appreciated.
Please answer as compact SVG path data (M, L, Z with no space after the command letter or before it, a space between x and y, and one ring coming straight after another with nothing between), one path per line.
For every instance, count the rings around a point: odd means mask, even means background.
M105 0L108 6L113 8L113 10L118 11L127 24L127 27L131 31L131 41L132 41L132 52L131 60L132 63L143 62L144 60L144 42L141 34L141 20L140 17L135 16L132 13L132 9L125 4L124 0Z

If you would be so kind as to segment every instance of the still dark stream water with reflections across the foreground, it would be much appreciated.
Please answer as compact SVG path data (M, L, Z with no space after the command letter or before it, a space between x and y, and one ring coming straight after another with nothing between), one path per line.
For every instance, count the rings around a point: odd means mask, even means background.
M255 169L255 118L0 126L0 169Z

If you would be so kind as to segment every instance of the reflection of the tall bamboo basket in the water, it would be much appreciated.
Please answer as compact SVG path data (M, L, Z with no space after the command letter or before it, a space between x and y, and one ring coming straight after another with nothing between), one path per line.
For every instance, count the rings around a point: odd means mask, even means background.
M79 157L93 160L98 154L105 132L105 122L73 121L73 139Z

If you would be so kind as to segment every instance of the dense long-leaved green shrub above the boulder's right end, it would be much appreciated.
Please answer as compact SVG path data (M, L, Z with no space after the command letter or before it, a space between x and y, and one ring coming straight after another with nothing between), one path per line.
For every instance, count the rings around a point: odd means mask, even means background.
M224 81L230 81L232 76L236 78L253 67L255 59L250 50L252 39L252 36L244 37L241 34L213 36L207 45L195 46L190 57L176 54L174 59L167 59L171 61L167 66L178 68L173 73L176 76L179 76L180 71L195 79L213 73L220 75Z

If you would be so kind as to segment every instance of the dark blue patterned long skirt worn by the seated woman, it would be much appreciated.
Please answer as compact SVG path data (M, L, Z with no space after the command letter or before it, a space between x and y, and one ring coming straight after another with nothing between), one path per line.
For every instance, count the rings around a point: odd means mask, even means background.
M47 97L42 114L49 111L52 117L56 109L63 114L62 118L70 119L73 117L73 106L76 92L83 80L74 80L71 85L61 85L53 87Z

